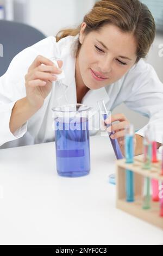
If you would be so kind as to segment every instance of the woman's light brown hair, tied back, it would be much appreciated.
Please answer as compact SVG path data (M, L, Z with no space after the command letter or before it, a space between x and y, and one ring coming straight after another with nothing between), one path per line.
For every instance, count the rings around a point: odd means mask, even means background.
M132 33L137 42L137 60L145 58L155 37L155 21L151 11L139 0L102 0L95 3L92 10L84 16L85 34L99 31L104 25L112 24L125 33ZM80 33L80 24L74 29L62 29L56 40L68 35L76 36ZM78 54L81 44L77 40Z

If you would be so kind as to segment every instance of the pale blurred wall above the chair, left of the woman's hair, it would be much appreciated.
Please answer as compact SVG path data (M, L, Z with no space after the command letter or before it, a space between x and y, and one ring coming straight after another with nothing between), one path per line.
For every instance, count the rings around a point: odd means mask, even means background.
M94 0L27 1L28 24L38 28L46 35L55 35L62 28L78 26L82 22L83 16L95 3Z

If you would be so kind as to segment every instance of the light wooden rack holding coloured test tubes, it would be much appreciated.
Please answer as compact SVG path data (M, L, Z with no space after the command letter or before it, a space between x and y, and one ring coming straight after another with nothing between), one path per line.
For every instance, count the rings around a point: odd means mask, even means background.
M143 155L135 156L134 163L126 163L126 159L117 160L116 170L116 207L127 212L141 220L163 229L163 218L159 216L159 202L152 202L151 209L142 209L142 194L144 178L151 178L163 182L163 176L160 175L161 161L152 163L152 168L146 170L143 166ZM126 170L134 172L134 202L126 202Z

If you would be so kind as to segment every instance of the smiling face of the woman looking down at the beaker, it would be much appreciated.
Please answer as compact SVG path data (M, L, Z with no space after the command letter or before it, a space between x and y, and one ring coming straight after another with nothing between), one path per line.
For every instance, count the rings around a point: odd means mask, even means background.
M121 32L114 25L105 25L100 31L87 35L85 27L83 22L76 82L79 87L99 89L119 80L135 64L136 41L133 35Z

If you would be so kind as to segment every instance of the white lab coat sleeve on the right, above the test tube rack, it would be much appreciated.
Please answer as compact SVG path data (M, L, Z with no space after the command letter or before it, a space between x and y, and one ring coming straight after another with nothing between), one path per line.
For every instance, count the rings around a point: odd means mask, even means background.
M155 70L144 60L140 60L129 71L124 83L128 95L124 103L133 111L149 118L148 124L136 134L145 136L147 126L154 124L155 141L163 143L163 84Z

